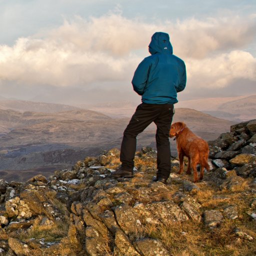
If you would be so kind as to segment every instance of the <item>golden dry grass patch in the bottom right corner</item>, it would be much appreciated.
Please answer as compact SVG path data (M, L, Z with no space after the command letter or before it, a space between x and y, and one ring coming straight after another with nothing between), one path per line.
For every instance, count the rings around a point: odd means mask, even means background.
M255 255L255 242L242 240L237 243L237 237L233 232L234 225L233 220L226 221L217 229L208 229L202 223L195 223L192 220L183 223L147 223L145 228L130 232L129 238L132 241L143 237L159 239L173 256ZM256 233L250 230L250 234L254 234L255 237Z

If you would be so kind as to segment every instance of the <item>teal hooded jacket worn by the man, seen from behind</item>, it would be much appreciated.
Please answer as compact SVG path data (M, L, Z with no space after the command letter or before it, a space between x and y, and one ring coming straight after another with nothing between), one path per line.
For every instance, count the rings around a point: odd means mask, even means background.
M174 104L177 92L186 84L184 61L172 54L169 35L156 32L148 45L151 56L145 57L134 72L133 89L148 104Z

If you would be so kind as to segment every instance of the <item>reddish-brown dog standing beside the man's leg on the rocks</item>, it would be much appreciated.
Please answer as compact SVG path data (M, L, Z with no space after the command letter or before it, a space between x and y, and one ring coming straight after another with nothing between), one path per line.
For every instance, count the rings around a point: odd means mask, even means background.
M209 147L208 143L202 138L196 136L183 122L175 122L170 127L170 137L176 136L177 140L177 151L179 159L179 172L181 173L184 169L183 158L187 156L187 174L190 174L190 166L194 172L194 182L198 181L196 165L200 164L200 179L203 178L203 171L206 168L209 171L208 154Z

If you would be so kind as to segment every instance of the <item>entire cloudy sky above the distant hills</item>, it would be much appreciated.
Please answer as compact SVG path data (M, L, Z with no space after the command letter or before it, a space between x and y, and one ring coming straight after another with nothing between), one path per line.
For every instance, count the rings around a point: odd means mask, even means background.
M256 94L255 0L0 0L0 99L140 101L156 31L184 60L179 100Z

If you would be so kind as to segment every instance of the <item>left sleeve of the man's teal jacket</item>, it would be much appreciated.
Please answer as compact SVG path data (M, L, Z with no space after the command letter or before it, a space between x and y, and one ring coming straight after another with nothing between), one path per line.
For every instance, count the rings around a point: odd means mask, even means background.
M142 95L147 82L148 74L151 67L151 61L144 58L136 68L133 78L131 80L134 91Z

